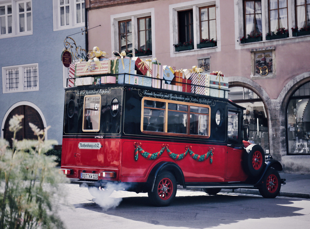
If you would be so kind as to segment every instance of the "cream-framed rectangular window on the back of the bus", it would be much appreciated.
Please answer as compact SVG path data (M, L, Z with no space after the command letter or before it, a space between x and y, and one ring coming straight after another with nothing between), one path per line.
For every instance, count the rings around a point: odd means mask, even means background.
M86 95L83 107L83 128L84 132L98 132L100 129L100 95Z

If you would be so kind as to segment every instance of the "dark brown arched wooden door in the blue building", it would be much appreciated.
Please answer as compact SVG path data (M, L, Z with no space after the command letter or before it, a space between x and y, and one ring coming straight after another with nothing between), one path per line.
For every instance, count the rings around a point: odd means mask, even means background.
M33 123L39 129L43 129L44 125L42 122L42 118L37 110L27 105L17 106L7 115L7 119L5 120L3 128L3 138L5 138L10 143L10 145L12 145L13 132L9 130L9 121L14 115L24 115L24 119L21 123L23 128L16 133L15 138L17 140L37 139L38 137L33 134L29 123Z

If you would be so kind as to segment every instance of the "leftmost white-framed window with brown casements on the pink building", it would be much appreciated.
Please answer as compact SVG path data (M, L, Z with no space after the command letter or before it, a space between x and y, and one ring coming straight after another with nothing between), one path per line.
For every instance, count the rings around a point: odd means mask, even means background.
M152 38L155 36L152 30L153 17L153 8L111 15L111 23L114 25L112 50L136 51L139 56L152 55Z

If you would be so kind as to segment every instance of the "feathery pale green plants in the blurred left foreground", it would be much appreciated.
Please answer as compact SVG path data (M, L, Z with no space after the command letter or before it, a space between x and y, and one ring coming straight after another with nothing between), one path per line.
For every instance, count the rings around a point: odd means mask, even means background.
M13 143L0 140L0 228L64 228L56 204L64 200L60 184L67 180L55 168L55 156L46 156L54 140L29 123L38 140L16 140L23 115L9 121Z

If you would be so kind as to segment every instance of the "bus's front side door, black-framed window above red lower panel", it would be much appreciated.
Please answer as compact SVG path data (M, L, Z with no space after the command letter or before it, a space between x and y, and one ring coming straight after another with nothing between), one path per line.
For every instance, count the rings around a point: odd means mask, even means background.
M241 111L228 109L226 179L237 178L241 170Z

